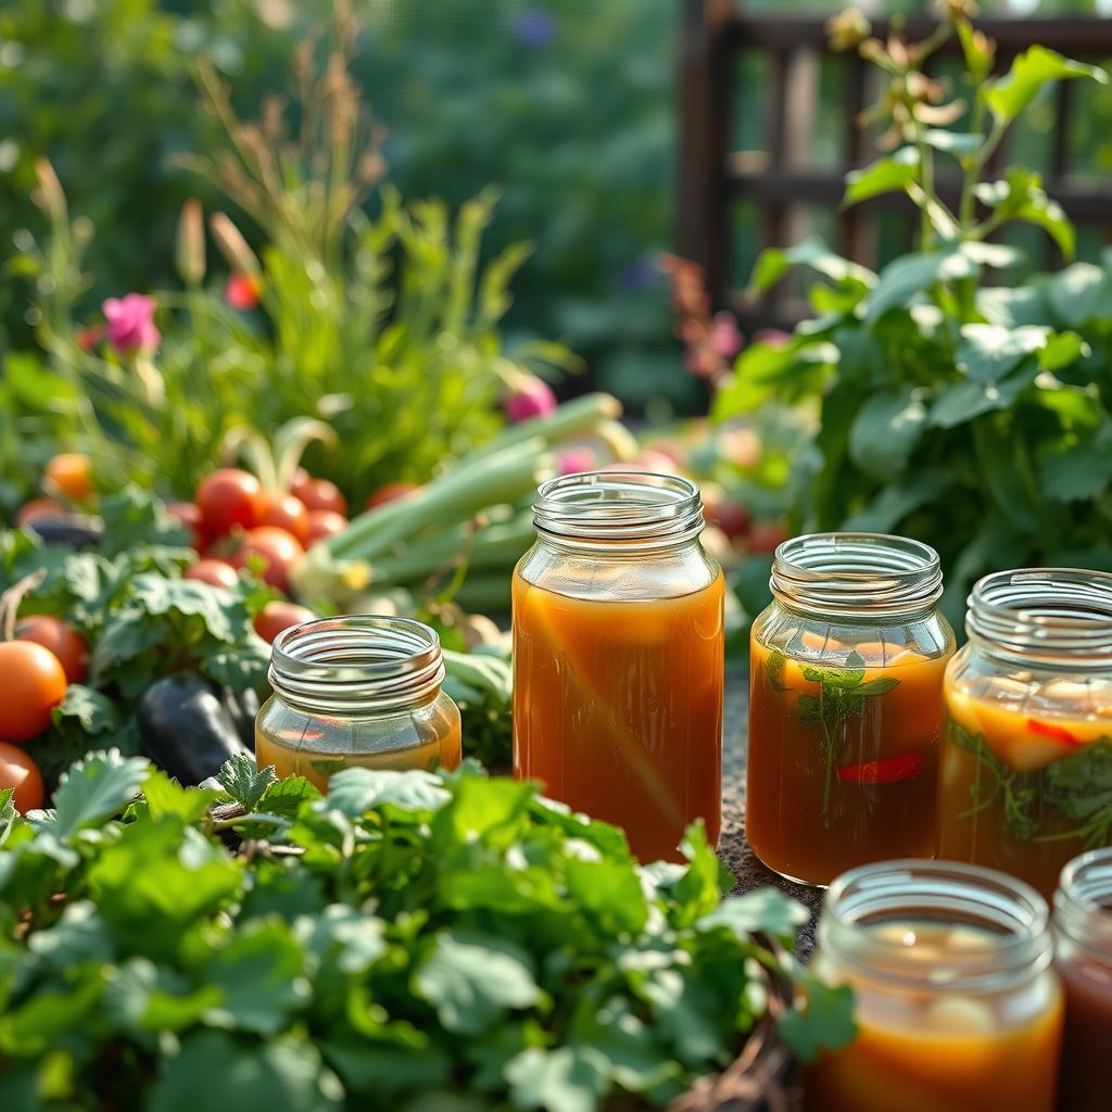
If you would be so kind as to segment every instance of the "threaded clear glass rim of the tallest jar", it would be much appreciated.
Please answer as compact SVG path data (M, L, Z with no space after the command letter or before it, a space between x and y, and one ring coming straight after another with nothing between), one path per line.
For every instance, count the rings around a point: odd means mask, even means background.
M703 532L698 487L653 471L578 471L543 483L533 504L537 532L575 548L638 553L693 540Z

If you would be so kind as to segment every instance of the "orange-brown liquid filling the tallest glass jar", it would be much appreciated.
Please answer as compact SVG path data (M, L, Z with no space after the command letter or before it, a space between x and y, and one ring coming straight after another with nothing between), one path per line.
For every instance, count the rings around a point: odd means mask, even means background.
M723 577L673 598L573 598L514 577L514 774L622 826L642 861L722 826Z

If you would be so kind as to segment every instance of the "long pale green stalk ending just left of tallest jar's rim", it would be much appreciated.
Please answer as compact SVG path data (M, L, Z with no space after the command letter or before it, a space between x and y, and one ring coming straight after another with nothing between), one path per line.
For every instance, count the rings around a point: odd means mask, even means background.
M361 514L346 533L315 548L335 559L374 560L420 529L467 522L489 506L517 502L552 470L545 447L538 437L478 459L465 457L420 490Z

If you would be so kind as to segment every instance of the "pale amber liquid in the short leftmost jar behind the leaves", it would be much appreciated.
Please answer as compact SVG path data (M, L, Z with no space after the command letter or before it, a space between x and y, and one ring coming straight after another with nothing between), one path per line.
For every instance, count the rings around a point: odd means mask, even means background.
M280 778L305 776L322 792L340 768L451 770L460 762L459 713L435 712L394 718L385 729L358 721L310 718L291 712L255 728L255 762L274 765ZM270 716L267 716L270 717Z

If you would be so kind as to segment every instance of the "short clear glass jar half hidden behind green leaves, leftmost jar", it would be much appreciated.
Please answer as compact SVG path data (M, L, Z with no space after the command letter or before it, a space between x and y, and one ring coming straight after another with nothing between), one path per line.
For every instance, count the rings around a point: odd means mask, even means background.
M351 765L455 768L459 709L443 682L440 639L420 622L360 614L294 626L271 648L256 762L321 790Z

